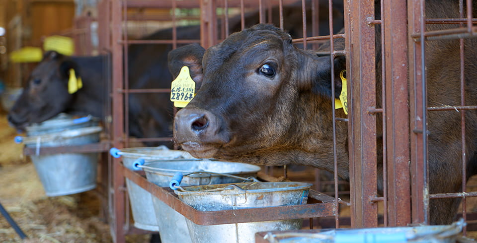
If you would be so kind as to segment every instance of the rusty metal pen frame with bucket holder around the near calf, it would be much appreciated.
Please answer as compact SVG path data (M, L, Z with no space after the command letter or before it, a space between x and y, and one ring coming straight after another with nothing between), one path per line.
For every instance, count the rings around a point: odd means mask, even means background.
M260 21L264 21L263 7L266 0L259 1ZM283 4L285 0L279 0L280 6L280 27L283 28ZM113 72L113 137L112 144L115 147L123 148L130 141L125 136L124 125L127 123L127 94L145 92L167 92L167 89L145 90L128 89L128 83L123 82L127 77L127 55L128 44L144 43L172 43L174 45L182 43L177 40L173 31L172 40L156 41L135 41L128 40L122 30L123 21L127 20L125 10L128 7L200 7L201 8L201 38L200 40L187 41L200 42L207 48L218 43L217 28L215 23L217 16L215 9L219 6L229 6L236 4L242 9L242 28L244 27L243 9L245 7L256 6L245 0L185 0L185 1L153 1L153 0L108 0L111 4L111 14L106 19L111 20L111 52ZM312 0L315 2L316 0ZM331 13L332 0L329 0L329 12ZM302 0L304 7L305 0ZM388 5L389 4L389 5ZM390 5L393 7L391 8ZM314 43L320 40L330 40L334 38L345 38L345 50L335 51L331 47L328 53L330 58L346 55L348 72L348 91L352 99L348 119L340 120L335 118L333 122L348 122L349 130L349 160L350 160L350 194L351 194L351 226L352 227L377 227L380 224L378 215L378 202L384 204L384 225L404 226L409 223L427 222L428 200L442 197L464 197L475 196L477 193L447 193L445 195L428 195L426 177L426 156L427 156L427 133L425 114L428 111L438 111L451 109L446 107L427 107L425 97L425 69L424 69L424 41L434 38L456 38L475 35L475 28L472 23L477 22L472 16L468 18L456 19L425 19L423 15L423 1L398 0L381 1L381 19L375 18L374 0L347 0L344 1L345 10L345 33L323 37L304 37L295 39L294 42L301 42L306 47L307 42ZM304 14L306 11L303 11ZM331 14L330 14L331 15ZM472 15L472 13L470 14ZM173 15L172 18L175 18ZM306 16L303 16L306 21ZM318 19L316 15L313 19ZM101 20L98 20L102 22ZM437 23L467 23L467 28L458 28L441 32L425 32L425 24ZM406 26L406 23L408 24ZM226 22L227 25L227 22ZM175 26L175 25L174 25ZM307 27L304 26L304 33ZM312 27L317 33L317 26ZM332 29L332 20L330 19ZM376 50L376 32L380 28L382 36L382 50ZM228 33L227 33L228 34ZM226 35L227 35L226 34ZM314 34L315 35L315 34ZM106 39L108 37L105 37ZM417 40L417 41L416 41ZM184 41L185 42L185 41ZM331 45L332 46L332 45ZM103 47L100 44L100 47ZM381 51L381 70L376 70L376 53ZM408 72L409 71L409 72ZM382 90L376 90L377 73L382 74ZM409 81L409 83L408 83ZM332 82L334 84L334 82ZM410 85L408 85L410 84ZM333 87L334 89L334 87ZM377 96L377 92L381 96ZM382 97L379 100L379 97ZM125 102L126 101L126 102ZM409 103L408 103L409 102ZM334 105L334 103L333 103ZM457 107L459 110L476 109L477 106L466 106L464 103ZM452 107L452 109L455 109ZM418 117L424 118L418 119ZM383 124L383 158L377 151L380 145L377 143L376 131L379 123ZM126 128L127 133L127 128ZM465 131L463 131L465 133ZM464 135L463 135L464 136ZM157 141L159 138L138 139L140 141ZM463 138L464 139L464 138ZM465 139L464 139L465 140ZM465 141L464 141L465 142ZM336 148L334 148L336 151ZM383 160L384 195L378 195L378 163ZM336 160L336 159L335 159ZM410 165L408 162L411 162ZM336 162L335 162L336 163ZM125 234L134 231L125 228L126 217L124 210L127 208L127 198L124 187L125 177L133 180L155 196L168 203L171 207L184 214L187 218L199 224L222 224L232 222L249 222L268 219L268 216L261 214L262 210L234 210L233 218L229 210L220 213L204 213L194 211L190 207L181 203L174 194L167 189L147 182L143 177L135 172L131 172L120 164L118 159L112 160L112 218L111 233L115 242L122 242ZM407 173L411 172L412 176ZM404 172L404 173L403 173ZM307 214L303 217L333 216L335 226L339 227L340 217L338 213L338 190L337 176L334 178L335 195L333 202L325 202L323 205L305 206ZM464 184L465 191L465 184ZM412 192L412 194L411 194ZM312 204L313 205L313 204ZM319 207L324 206L324 211L318 212ZM287 208L290 210L293 207ZM283 207L271 209L278 210ZM412 210L411 210L412 209ZM412 214L408 214L412 211ZM276 212L276 211L273 211ZM288 211L297 217L298 211ZM242 214L243 213L243 214ZM295 214L296 213L296 214ZM260 217L253 217L253 215ZM211 216L212 215L212 216ZM287 214L288 215L288 214ZM285 216L284 216L285 217ZM287 216L288 217L288 216ZM464 217L466 213L464 212ZM276 219L274 217L274 219ZM235 220L235 221L234 221ZM313 221L312 221L313 222ZM141 231L135 231L141 232Z

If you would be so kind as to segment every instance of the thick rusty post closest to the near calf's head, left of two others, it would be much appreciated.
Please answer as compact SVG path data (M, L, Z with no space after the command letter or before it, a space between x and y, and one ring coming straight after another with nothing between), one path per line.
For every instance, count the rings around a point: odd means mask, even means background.
M376 117L368 109L376 106L375 28L373 0L345 1L348 94L349 171L351 227L378 226Z

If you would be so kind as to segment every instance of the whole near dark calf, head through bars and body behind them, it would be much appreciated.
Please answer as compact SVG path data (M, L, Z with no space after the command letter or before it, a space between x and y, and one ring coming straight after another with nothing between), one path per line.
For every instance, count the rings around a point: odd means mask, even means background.
M458 9L454 0L426 1L428 18L457 18ZM380 36L380 28L376 30ZM335 41L337 49L344 48L343 39ZM381 42L377 43L380 48ZM318 51L328 48L323 45ZM465 51L466 104L475 105L477 40L465 40ZM459 105L459 40L429 42L426 55L428 105ZM378 63L380 58L380 54L376 56ZM202 82L195 98L174 121L175 141L193 156L265 165L297 163L334 170L331 101L341 91L337 75L345 69L344 57L334 62L329 56L318 57L296 48L286 32L259 24L232 34L207 51L198 45L176 49L169 54L169 63L174 76L184 63L194 66L191 76ZM335 93L331 93L331 65ZM379 65L377 70L381 70ZM377 77L380 84L381 75ZM346 117L341 109L336 115ZM430 193L461 189L460 117L457 111L429 113ZM476 111L466 111L467 179L476 174L476 120ZM382 127L376 132L382 139ZM349 180L345 122L336 124L336 137L337 174ZM382 168L382 161L378 167ZM378 187L382 190L382 171L379 173ZM431 200L430 223L451 223L459 202Z

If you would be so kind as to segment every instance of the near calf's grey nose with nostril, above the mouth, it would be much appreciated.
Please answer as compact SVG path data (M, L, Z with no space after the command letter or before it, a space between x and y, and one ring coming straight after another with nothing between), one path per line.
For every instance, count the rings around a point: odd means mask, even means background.
M214 114L196 108L183 108L174 118L174 137L178 143L226 143L227 132Z

